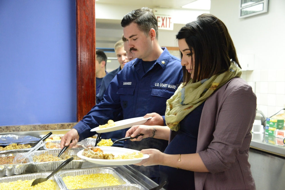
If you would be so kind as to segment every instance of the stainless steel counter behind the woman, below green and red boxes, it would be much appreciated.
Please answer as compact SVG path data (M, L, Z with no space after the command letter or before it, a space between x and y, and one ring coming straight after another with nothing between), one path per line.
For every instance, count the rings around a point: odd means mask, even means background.
M252 133L248 162L256 189L285 188L285 146L283 139Z

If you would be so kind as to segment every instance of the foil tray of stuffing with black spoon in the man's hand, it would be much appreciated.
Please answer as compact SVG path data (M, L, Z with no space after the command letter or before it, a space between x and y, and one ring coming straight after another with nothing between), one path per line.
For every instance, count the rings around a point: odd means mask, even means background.
M80 150L76 150L76 149L68 149L60 157L62 157L65 153L67 153L70 156L76 155L77 152L79 152L79 151ZM35 167L37 172L53 171L62 162L64 162L64 160L53 161L53 162L34 162L33 161L33 157L35 155L39 156L39 155L45 154L45 153L46 154L51 154L53 156L57 156L59 154L59 152L60 152L60 150L39 150L39 151L36 151L33 154L31 154L29 159L31 159L32 165ZM72 160L63 169L77 169L77 168L81 168L83 162L86 162L86 160L82 160L82 159L81 160Z

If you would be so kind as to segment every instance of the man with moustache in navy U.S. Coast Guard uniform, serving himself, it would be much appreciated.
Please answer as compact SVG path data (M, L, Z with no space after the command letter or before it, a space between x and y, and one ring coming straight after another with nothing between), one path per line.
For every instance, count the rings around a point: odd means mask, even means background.
M159 46L157 19L151 9L131 11L124 16L121 25L128 48L136 59L125 64L124 69L110 82L104 99L62 137L61 148L68 144L74 146L78 141L94 135L96 132L90 132L92 128L106 124L110 119L118 120L121 112L123 119L151 113L152 118L145 125L165 126L166 101L183 81L180 59ZM127 130L124 130L123 136ZM167 144L168 141L155 138L124 141L125 148L156 148L161 152L164 152ZM159 183L158 166L134 167Z

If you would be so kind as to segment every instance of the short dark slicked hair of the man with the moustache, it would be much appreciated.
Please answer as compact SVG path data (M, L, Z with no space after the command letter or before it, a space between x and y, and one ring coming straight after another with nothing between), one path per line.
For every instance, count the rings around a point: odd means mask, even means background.
M126 27L133 22L138 24L138 27L145 33L145 35L147 35L149 30L153 28L156 33L155 38L158 39L157 18L155 17L152 9L143 7L141 9L131 11L124 16L121 21L121 26Z

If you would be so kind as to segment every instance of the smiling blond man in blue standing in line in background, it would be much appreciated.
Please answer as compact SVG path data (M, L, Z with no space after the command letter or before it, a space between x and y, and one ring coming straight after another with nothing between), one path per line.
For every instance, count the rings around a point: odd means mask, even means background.
M127 52L124 50L124 42L123 40L119 40L114 45L115 53L118 59L118 62L120 64L120 67L114 71L111 71L108 73L102 80L101 87L99 92L96 91L96 104L98 104L100 101L103 100L104 93L109 85L109 83L113 80L113 78L116 76L116 74L123 69L124 65L129 62ZM130 54L132 55L132 54ZM133 57L130 57L133 59ZM97 90L97 89L96 89Z

